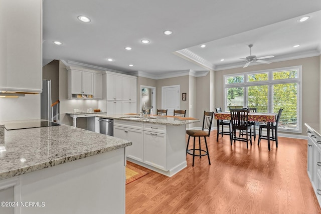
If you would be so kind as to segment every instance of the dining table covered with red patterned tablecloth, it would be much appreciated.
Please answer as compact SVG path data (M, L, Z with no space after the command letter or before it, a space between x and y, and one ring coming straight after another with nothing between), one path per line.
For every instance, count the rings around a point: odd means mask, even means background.
M267 125L267 145L270 150L270 126L271 123L276 121L277 113L265 113L265 112L249 112L248 121L255 122L266 122ZM219 120L230 120L231 121L231 113L228 112L220 112L214 113L214 119L217 120L217 131L219 132Z

